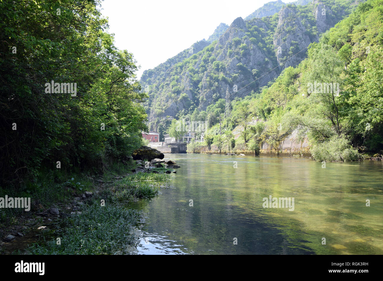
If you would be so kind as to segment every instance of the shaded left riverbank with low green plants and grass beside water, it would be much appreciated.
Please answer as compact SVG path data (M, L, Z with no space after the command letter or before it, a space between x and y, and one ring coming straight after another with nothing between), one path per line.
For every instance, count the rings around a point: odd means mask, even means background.
M165 167L139 172L133 168L137 168L136 162L129 161L113 166L103 175L72 175L62 184L47 175L51 180L42 181L33 192L1 190L13 197L31 197L32 208L29 212L0 210L2 237L11 238L1 242L0 253L131 252L139 241L134 226L143 217L123 205L157 195L171 178L166 173L171 170Z

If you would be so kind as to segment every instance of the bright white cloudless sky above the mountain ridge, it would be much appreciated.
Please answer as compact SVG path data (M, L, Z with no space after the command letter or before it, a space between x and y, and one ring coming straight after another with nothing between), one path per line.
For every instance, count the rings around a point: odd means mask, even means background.
M293 0L282 0L285 3ZM133 53L137 78L168 58L213 34L220 23L230 25L270 0L104 0L115 45Z

